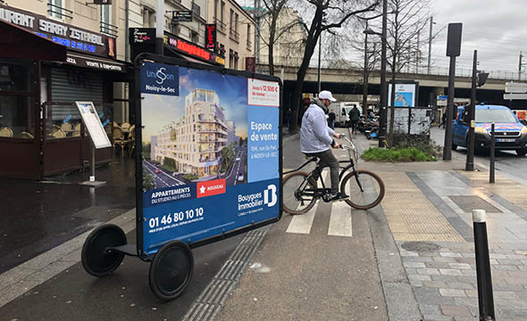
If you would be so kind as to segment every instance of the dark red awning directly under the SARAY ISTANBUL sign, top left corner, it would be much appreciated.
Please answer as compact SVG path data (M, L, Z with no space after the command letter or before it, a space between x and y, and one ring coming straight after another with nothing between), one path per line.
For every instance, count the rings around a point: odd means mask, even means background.
M0 20L0 58L66 61L66 47Z

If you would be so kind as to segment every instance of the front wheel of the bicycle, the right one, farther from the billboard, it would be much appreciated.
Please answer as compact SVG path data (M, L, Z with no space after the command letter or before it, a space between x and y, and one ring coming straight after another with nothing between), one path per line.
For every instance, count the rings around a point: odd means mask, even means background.
M345 201L357 210L369 210L384 197L384 183L377 174L364 169L348 173L340 183L340 192L349 195Z

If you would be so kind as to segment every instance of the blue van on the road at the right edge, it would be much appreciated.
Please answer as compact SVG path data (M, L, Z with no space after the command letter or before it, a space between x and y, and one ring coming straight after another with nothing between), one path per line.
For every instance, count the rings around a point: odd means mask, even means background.
M506 106L476 105L474 127L474 151L489 150L490 128L494 122L497 150L514 150L519 156L527 154L527 127ZM457 117L452 126L452 149L466 147L468 127L464 106L457 108Z

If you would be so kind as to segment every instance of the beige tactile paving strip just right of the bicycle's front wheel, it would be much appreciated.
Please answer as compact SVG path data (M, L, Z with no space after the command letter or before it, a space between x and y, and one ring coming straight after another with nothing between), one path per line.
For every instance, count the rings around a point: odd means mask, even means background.
M381 205L396 241L464 242L406 173L377 174L386 186Z

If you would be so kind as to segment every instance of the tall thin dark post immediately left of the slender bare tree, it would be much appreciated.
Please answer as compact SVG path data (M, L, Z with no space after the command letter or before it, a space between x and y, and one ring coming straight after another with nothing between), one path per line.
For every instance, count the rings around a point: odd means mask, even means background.
M388 25L388 0L382 0L382 46L381 46L381 106L379 119L379 147L384 147L386 139L386 106L388 87L386 86L386 29Z

